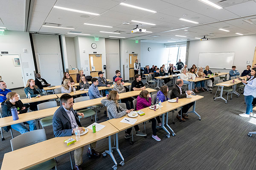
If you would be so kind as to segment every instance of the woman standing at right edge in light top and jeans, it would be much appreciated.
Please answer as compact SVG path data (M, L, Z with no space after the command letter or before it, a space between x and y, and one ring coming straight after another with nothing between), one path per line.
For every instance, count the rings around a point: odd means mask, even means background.
M244 87L244 100L246 104L246 112L239 114L242 117L250 117L253 116L253 99L256 97L256 68L252 68L251 77L248 81L241 80L245 87Z

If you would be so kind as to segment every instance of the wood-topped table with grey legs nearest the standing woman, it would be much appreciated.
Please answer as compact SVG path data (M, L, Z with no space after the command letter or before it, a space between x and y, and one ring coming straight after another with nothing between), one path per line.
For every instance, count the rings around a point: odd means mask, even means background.
M240 77L241 79L246 79L246 76L244 77ZM234 83L233 83L233 80L234 80ZM232 79L232 80L229 80L229 81L226 81L226 82L221 82L221 83L218 83L216 85L218 85L219 87L218 88L221 88L221 92L220 92L220 96L219 97L214 97L214 100L215 99L222 99L225 101L225 103L227 103L227 100L222 96L223 95L223 88L224 87L230 87L230 86L234 86L233 87L233 91L231 93L231 99L232 99L232 94L236 94L237 97L240 96L239 93L236 92L236 85L241 83L241 81L239 79ZM218 90L216 91L216 94L217 94ZM215 94L215 96L216 96Z

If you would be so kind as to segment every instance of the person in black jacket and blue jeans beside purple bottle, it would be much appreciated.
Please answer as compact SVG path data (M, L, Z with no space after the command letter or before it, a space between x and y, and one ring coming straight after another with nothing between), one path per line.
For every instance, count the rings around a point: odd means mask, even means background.
M25 105L23 105L23 103L19 100L19 96L16 92L9 92L6 95L6 98L7 99L1 103L3 117L12 116L12 112L10 109L13 106L15 108L17 108L18 114L26 113L28 111L28 109L25 107ZM29 125L29 130L28 130L28 128L26 128L25 125ZM29 132L32 130L36 130L36 121L29 120L29 121L26 121L23 123L17 123L15 125L9 125L9 126L3 127L3 129L6 132L8 132L10 130L10 128L17 130L18 132L23 134L23 133L26 133L26 132Z

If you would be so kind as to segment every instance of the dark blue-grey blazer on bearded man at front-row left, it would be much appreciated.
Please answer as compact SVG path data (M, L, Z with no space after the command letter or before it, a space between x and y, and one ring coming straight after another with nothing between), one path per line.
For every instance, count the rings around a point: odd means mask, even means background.
M79 122L77 112L75 112L73 108L71 110L75 115L77 125L79 127L82 126L81 123ZM52 128L53 128L53 134L55 137L72 136L72 127L71 127L70 118L67 116L67 113L64 110L62 105L57 109L57 111L55 111L53 115Z

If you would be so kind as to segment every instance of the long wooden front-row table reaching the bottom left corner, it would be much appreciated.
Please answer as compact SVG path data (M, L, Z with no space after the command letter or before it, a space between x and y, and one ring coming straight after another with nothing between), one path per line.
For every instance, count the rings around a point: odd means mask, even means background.
M67 143L64 143L64 140L69 139L71 136L65 136L48 139L44 142L32 144L9 153L5 153L1 170L25 170L57 156L61 156L79 147L83 147L106 137L110 138L111 135L119 132L116 127L107 121L100 124L105 125L106 127L96 133L93 133L92 130L88 129L88 133L82 135L80 141L69 146L67 146ZM72 137L76 139L76 136L73 135ZM111 151L110 153L112 154Z

